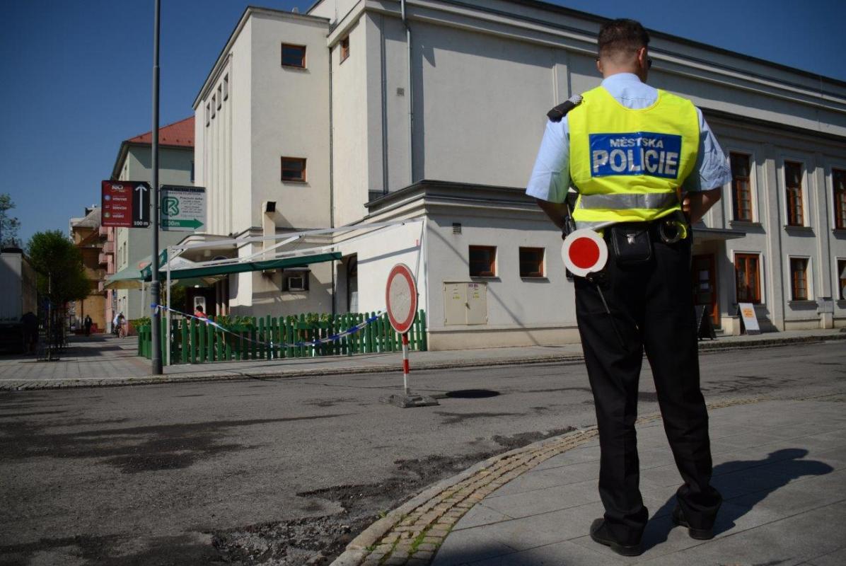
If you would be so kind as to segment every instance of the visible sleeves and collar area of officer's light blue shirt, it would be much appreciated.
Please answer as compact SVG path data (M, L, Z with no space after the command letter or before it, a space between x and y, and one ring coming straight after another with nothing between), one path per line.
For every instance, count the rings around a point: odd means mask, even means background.
M636 74L618 73L602 81L602 86L624 107L634 110L649 107L658 98L658 91L640 82ZM702 118L699 108L699 153L694 170L684 179L682 190L711 190L722 187L732 180L728 160L722 153L717 138ZM567 117L560 122L547 122L547 129L537 152L535 168L532 169L526 195L542 201L563 202L570 186L570 138Z

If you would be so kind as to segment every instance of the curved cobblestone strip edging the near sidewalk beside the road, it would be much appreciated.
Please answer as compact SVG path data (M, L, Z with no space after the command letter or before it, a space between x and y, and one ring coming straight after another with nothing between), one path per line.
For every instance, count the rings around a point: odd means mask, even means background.
M708 408L765 400L768 398L727 399L708 404ZM644 424L660 418L660 413L654 413L637 422ZM453 526L476 503L537 464L576 448L596 434L596 426L592 426L486 459L430 487L376 521L349 543L332 566L427 566Z

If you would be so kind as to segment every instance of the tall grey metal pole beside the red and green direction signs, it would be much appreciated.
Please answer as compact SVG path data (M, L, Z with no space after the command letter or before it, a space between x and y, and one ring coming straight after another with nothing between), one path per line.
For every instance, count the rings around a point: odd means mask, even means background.
M150 198L151 224L153 233L152 281L150 283L150 298L154 305L159 304L160 283L158 280L158 44L159 44L159 12L162 8L161 0L153 0L153 131L152 131L152 195ZM162 375L162 317L157 308L153 308L151 316L152 355L150 373L154 376Z

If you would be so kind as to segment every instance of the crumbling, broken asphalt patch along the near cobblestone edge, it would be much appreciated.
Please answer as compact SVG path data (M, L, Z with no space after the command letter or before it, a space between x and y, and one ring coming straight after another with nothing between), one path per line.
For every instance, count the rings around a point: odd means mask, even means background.
M572 426L552 431L523 432L514 436L495 436L501 449L459 456L431 455L422 459L396 460L395 475L384 481L356 486L332 486L299 497L338 503L343 512L322 517L304 517L289 521L250 525L218 531L214 545L229 563L243 566L294 566L332 562L362 530L389 510L414 497L426 486L466 470L481 460L532 442L557 437Z

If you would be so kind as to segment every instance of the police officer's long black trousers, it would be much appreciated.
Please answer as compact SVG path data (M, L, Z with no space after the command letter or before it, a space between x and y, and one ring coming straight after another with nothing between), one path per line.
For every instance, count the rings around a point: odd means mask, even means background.
M643 353L652 368L667 440L684 482L678 504L689 525L710 528L722 497L711 487L708 414L700 391L690 238L653 238L652 258L617 265L609 245L598 284L575 279L576 318L596 404L601 449L599 492L618 541L640 541L648 511L640 496L634 420ZM615 329L616 327L616 329Z

